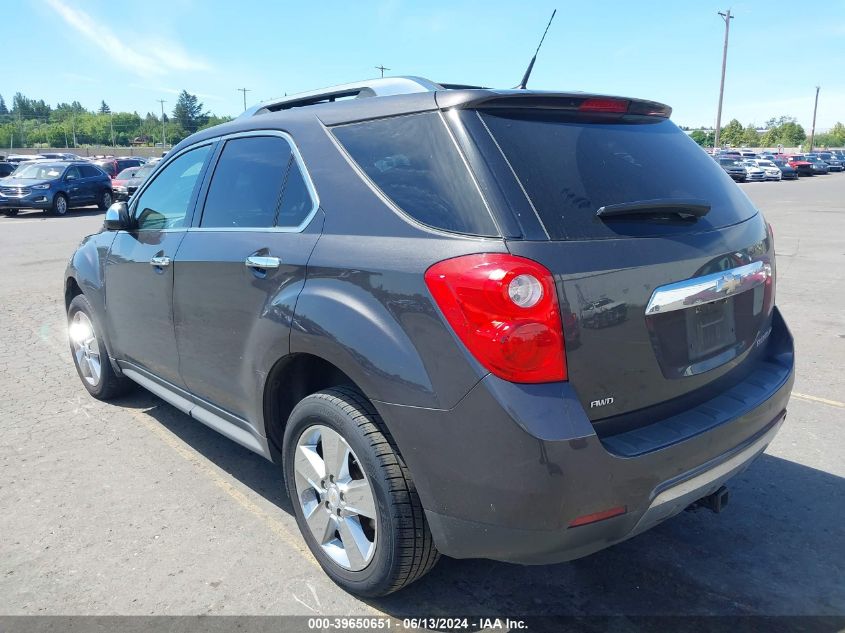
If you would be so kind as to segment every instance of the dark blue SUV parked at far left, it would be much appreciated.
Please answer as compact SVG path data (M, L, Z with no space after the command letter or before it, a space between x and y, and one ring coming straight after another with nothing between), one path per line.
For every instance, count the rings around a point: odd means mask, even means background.
M112 203L111 178L84 161L33 161L0 179L0 213L17 215L20 209L42 209L64 215L69 209Z

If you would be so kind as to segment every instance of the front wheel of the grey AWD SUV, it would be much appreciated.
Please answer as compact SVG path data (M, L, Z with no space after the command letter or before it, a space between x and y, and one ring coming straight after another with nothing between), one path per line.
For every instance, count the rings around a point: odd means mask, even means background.
M132 381L115 374L94 310L85 295L77 295L67 311L73 364L82 386L97 400L110 400L132 388Z

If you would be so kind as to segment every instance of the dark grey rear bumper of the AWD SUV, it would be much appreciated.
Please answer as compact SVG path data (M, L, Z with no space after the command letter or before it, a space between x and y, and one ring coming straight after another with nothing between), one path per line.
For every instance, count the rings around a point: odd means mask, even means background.
M487 376L449 411L377 406L442 553L561 562L674 516L765 450L784 420L794 379L792 338L778 313L767 349L771 380L744 409L737 402L736 415L720 402L710 407L728 416L718 423L693 428L674 416L616 445L596 435L568 383L516 385ZM648 436L656 438L653 450L642 443ZM620 452L625 445L627 454ZM619 507L624 514L570 525Z

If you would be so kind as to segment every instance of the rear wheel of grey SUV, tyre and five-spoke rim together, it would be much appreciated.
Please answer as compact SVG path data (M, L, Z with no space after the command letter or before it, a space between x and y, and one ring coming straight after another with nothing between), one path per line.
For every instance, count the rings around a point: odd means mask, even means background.
M285 428L283 453L299 529L343 589L384 596L437 563L408 468L357 391L326 389L300 401Z

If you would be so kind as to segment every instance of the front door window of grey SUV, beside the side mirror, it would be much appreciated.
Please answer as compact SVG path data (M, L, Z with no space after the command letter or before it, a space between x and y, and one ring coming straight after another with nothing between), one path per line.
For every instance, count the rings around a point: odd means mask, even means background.
M139 230L185 226L188 206L210 151L211 145L204 145L186 152L156 176L135 205Z

